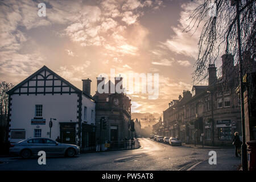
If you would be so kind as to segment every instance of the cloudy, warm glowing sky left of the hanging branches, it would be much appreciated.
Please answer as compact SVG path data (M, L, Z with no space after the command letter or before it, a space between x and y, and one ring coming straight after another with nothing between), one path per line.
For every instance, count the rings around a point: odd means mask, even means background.
M46 16L38 15L41 2ZM46 65L80 89L90 78L93 96L96 78L110 69L158 74L156 99L127 96L132 113L162 113L192 89L200 31L183 31L192 7L189 0L1 1L0 81L18 84Z

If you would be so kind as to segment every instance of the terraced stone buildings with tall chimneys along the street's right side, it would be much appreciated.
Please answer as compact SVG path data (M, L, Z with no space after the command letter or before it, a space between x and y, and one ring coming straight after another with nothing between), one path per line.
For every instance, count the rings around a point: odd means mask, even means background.
M232 145L234 133L241 133L240 98L235 76L238 66L234 66L232 55L223 55L219 78L216 69L214 64L209 65L208 85L193 85L192 93L184 91L183 97L168 104L168 109L163 111L164 135L179 137L186 143L202 144L204 140L209 146ZM248 118L253 120L253 117ZM247 126L249 130L249 124ZM250 130L253 129L250 126Z

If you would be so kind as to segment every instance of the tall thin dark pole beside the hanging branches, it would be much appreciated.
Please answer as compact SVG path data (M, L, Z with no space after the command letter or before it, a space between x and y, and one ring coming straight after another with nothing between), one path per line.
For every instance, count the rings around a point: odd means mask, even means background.
M240 0L236 1L237 7L237 34L238 34L238 56L239 56L239 80L240 80L240 101L241 101L241 124L242 124L242 149L241 149L241 163L242 170L247 171L247 146L245 144L245 106L243 102L243 70L242 70L242 51L241 51L241 30L240 30L240 13L239 13Z

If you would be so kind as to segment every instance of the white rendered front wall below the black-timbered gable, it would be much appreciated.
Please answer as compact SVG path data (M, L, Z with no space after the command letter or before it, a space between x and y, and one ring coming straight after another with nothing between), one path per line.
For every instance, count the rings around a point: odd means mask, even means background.
M25 129L26 139L34 137L34 129L42 129L42 137L49 138L50 118L56 118L53 121L51 139L55 140L60 135L59 122L77 122L77 97L72 94L13 94L11 95L11 122L10 129ZM84 100L84 97L83 97ZM86 102L86 101L85 101ZM91 101L90 101L91 102ZM86 103L87 104L87 103ZM31 125L31 119L35 117L35 105L43 105L43 119L46 119L46 125ZM93 107L93 106L92 106ZM94 106L95 108L95 106ZM94 117L95 118L95 117ZM19 142L22 139L11 139L10 142Z

